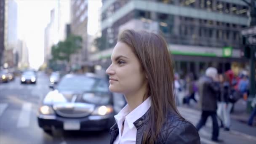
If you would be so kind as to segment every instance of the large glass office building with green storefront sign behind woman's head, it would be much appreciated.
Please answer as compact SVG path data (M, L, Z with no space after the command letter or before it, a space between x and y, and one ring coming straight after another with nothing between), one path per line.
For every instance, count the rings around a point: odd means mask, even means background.
M107 68L123 29L160 32L169 44L175 71L200 76L209 66L219 72L244 67L240 30L248 25L242 0L102 0L100 50L90 56ZM102 49L102 48L101 48Z

